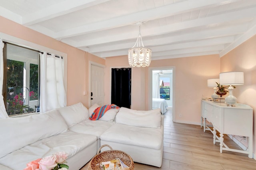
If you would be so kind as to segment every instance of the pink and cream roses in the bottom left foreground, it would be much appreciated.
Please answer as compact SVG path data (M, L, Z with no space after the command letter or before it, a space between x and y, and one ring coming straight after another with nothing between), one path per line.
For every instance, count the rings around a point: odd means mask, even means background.
M65 152L57 152L29 162L24 170L68 170L68 165L64 164L67 158Z

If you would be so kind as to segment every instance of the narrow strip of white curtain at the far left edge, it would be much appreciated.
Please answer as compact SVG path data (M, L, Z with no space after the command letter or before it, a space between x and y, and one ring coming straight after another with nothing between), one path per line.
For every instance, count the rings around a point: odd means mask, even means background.
M4 43L0 38L0 119L9 118L4 106L4 97L2 95L3 81L4 81L4 57L3 57Z

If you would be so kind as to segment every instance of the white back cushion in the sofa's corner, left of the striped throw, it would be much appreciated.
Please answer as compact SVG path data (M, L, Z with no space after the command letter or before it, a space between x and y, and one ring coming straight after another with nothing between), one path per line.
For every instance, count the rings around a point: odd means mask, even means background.
M62 117L64 117L68 127L72 127L73 125L89 119L89 111L82 103L61 107L58 111Z

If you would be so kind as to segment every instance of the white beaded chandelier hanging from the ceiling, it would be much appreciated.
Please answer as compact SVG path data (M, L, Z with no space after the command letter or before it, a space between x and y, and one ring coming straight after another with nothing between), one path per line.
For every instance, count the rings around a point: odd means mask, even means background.
M142 22L137 22L136 25L141 26ZM128 51L129 65L132 67L149 66L151 62L151 52L151 49L144 47L139 28L139 36L136 43Z

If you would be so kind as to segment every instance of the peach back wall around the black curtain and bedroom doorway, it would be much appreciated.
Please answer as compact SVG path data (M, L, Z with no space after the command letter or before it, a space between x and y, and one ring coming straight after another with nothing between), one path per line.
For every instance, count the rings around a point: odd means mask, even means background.
M106 58L105 104L110 101L110 68L127 67L127 55ZM220 57L206 55L176 59L152 60L150 67L175 67L176 121L200 124L200 100L210 97L214 90L207 87L207 79L218 78ZM132 67L132 109L148 109L148 67ZM145 88L145 90L144 90ZM182 114L182 117L177 115Z

